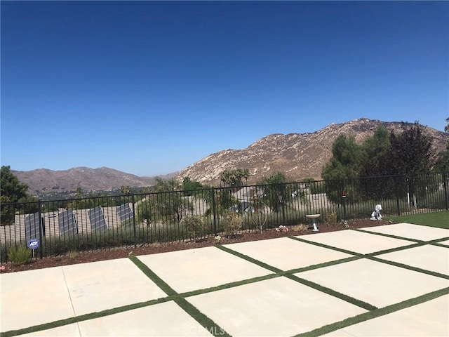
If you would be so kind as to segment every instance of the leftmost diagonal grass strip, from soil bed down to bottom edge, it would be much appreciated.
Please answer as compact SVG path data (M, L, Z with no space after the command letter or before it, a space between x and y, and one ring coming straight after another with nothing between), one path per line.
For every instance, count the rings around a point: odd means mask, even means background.
M149 279L151 279L156 286L159 286L177 305L182 308L187 314L189 314L193 319L196 320L201 326L203 326L209 333L214 336L229 336L229 333L218 326L212 319L204 315L199 311L194 305L187 302L185 298L180 296L173 288L171 288L163 279L157 276L145 263L142 263L137 256L130 256L129 259L137 265L137 267L145 274Z

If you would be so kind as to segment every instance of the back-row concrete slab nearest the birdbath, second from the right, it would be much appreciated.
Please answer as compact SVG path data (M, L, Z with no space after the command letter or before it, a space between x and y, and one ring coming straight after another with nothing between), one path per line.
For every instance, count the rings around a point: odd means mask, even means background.
M380 235L369 234L368 232L358 232L356 230L340 230L338 232L309 234L302 235L300 238L362 254L374 253L376 251L413 244L413 242L407 240L382 237Z

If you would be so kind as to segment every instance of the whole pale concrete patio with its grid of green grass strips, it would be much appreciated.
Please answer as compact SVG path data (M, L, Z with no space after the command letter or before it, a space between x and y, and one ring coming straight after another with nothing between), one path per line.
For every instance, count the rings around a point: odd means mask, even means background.
M0 331L449 336L448 242L401 223L2 274Z

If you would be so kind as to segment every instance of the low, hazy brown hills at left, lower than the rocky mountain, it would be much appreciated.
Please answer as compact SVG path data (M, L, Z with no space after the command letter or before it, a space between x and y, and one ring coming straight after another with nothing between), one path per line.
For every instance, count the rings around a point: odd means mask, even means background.
M20 182L28 185L32 193L109 190L121 186L142 187L154 185L154 177L138 177L133 174L101 167L75 167L65 171L37 169L32 171L13 171Z

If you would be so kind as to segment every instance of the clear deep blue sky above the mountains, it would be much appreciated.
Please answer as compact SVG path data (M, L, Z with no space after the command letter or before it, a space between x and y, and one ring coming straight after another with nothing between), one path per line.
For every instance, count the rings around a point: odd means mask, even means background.
M449 117L448 1L1 1L1 165L180 171L272 133Z

